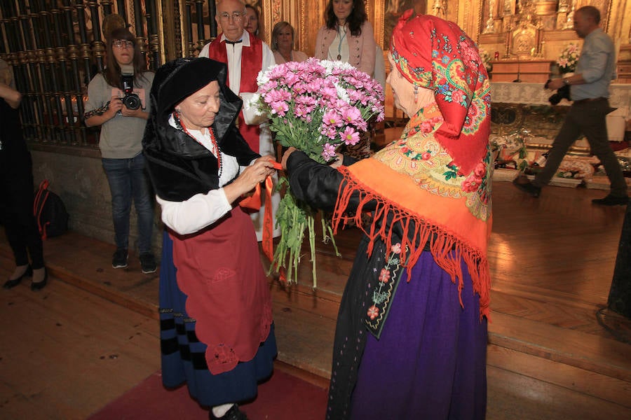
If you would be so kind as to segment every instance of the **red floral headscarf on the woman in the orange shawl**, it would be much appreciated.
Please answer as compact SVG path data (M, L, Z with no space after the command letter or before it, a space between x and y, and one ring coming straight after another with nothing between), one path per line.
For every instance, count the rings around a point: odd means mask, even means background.
M460 172L487 153L491 85L477 45L454 22L407 10L393 29L391 54L410 83L434 91L445 118L435 133Z

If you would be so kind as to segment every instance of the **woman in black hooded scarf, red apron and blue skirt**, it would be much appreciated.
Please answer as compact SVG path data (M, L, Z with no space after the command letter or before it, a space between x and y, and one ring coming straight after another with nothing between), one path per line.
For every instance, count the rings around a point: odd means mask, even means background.
M160 273L163 384L184 381L211 419L269 377L276 340L255 230L238 205L273 173L235 126L226 65L176 59L158 69L142 141L166 225Z

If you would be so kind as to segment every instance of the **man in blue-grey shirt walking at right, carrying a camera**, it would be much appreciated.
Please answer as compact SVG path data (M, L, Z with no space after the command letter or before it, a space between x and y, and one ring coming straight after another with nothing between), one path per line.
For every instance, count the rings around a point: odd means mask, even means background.
M574 13L574 31L584 38L581 56L574 76L557 78L548 83L548 89L557 90L569 85L573 104L552 143L548 161L534 181L516 179L513 184L524 193L538 197L541 188L555 176L568 148L581 134L587 137L591 151L602 163L611 190L604 198L592 200L605 206L626 205L629 201L627 183L616 155L609 146L605 116L609 108L609 83L616 71L615 50L609 35L599 28L600 12L594 6L581 7Z

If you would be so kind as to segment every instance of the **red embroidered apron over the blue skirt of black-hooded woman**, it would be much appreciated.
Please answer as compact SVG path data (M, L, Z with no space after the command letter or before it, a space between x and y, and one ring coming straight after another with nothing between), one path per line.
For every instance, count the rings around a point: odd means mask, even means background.
M201 232L170 237L177 286L196 336L208 346L208 370L229 372L252 360L269 335L272 312L250 216L236 207Z

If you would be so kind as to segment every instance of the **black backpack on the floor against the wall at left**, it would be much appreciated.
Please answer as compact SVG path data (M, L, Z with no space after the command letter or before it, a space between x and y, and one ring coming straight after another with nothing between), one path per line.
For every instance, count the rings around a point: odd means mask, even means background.
M68 212L59 195L48 190L48 179L41 181L35 193L33 214L41 239L59 236L68 230Z

